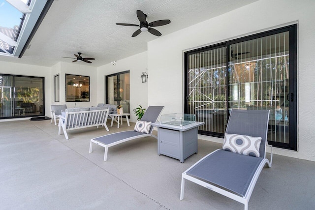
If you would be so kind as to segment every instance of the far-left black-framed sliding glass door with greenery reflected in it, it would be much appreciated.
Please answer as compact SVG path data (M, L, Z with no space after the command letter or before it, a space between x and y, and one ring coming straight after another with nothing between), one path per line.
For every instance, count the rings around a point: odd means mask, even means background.
M0 119L43 116L44 78L0 75Z

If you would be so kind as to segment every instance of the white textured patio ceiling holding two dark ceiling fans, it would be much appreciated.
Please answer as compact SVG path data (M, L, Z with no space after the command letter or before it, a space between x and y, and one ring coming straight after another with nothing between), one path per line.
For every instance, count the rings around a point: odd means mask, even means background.
M171 20L168 25L155 27L164 36L254 1L257 0L55 0L23 57L0 56L0 61L50 67L60 61L72 62L62 57L81 52L83 58L95 60L76 64L97 67L144 52L147 42L158 38L147 31L131 37L137 27L115 24L139 24L136 10L147 14L149 23Z

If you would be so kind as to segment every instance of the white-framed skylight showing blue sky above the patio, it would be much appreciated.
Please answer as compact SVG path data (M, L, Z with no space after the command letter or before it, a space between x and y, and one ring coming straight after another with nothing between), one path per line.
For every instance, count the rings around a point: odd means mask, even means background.
M53 1L0 0L0 56L23 56Z

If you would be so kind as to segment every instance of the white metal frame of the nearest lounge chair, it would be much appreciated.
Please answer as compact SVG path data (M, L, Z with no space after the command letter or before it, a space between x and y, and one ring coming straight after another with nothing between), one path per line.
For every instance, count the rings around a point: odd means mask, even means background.
M232 110L233 112L233 110ZM266 110L266 112L268 112L268 118L267 120L269 119L269 110ZM245 210L248 210L248 203L249 203L249 200L251 198L251 195L252 195L252 191L254 189L254 186L256 184L256 181L258 180L258 177L260 175L260 172L261 170L263 169L264 165L267 163L268 164L268 167L271 167L272 166L272 146L269 146L267 145L267 132L268 132L268 121L266 122L267 123L267 126L266 126L266 139L264 141L264 145L261 145L260 147L264 147L264 154L263 154L263 159L262 161L260 162L259 166L257 167L256 171L254 172L254 175L252 177L252 180L247 188L247 191L245 193L244 196L240 196L236 193L233 193L233 192L230 192L229 190L227 190L226 188L224 188L224 186L218 186L218 185L214 185L212 184L209 180L208 181L203 181L203 180L199 180L195 177L192 177L188 174L188 172L193 169L196 165L198 165L200 162L202 162L203 160L207 159L209 156L211 156L212 154L218 152L219 150L215 150L213 152L211 152L210 154L206 155L205 157L203 157L202 159L200 159L198 162L196 162L195 164L193 164L189 169L187 169L183 174L182 174L182 183L181 183L181 195L180 195L180 200L183 200L184 199L184 188L185 188L185 180L189 180L189 181L192 181L196 184L199 184L203 187L206 187L212 191L215 191L217 193L220 193L221 195L224 195L228 198L231 198L237 202L240 202L242 204L244 204L244 209ZM228 125L227 127L229 126L229 122L228 122ZM228 128L227 128L228 129ZM270 152L271 152L271 155L270 155L270 161L266 158L266 147L269 146L270 147ZM261 155L262 156L262 155ZM252 158L257 158L257 157L252 157ZM211 173L211 171L209 172Z

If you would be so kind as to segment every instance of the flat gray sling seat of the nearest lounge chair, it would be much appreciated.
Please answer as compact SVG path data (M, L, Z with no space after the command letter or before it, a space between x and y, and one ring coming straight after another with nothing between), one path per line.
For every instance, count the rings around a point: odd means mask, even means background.
M244 196L261 161L261 157L218 150L195 165L187 174Z

